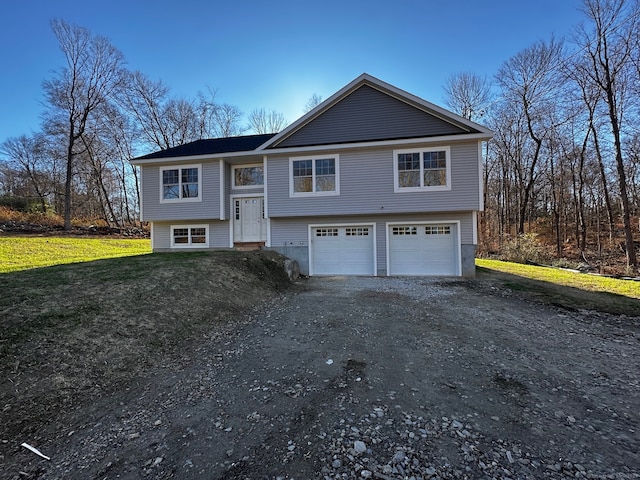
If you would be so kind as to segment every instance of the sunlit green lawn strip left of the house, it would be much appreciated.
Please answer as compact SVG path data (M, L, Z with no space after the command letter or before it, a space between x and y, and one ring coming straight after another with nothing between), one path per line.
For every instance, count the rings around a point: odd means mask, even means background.
M151 253L146 239L0 237L0 273Z

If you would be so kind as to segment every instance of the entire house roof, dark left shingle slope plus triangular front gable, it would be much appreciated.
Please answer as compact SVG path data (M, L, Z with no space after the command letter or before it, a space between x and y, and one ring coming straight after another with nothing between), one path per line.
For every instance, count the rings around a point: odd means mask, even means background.
M132 163L458 135L489 139L493 132L364 73L280 133L196 140Z

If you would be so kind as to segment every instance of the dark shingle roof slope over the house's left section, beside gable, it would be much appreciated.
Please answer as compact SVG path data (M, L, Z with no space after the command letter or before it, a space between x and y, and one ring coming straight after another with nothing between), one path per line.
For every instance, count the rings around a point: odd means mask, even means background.
M154 158L190 157L195 155L212 155L217 153L250 152L273 137L275 133L263 135L244 135L241 137L210 138L196 140L177 147L149 153L135 160L151 160Z

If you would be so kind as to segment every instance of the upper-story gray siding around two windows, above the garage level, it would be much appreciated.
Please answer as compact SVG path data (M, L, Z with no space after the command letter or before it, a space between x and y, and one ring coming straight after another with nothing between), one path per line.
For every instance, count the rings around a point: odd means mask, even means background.
M339 154L340 194L290 198L289 157L270 157L268 215L275 218L479 210L478 142L447 145L451 152L451 189L443 191L395 193L394 148L386 147L323 152L323 157ZM405 148L410 147L399 147Z

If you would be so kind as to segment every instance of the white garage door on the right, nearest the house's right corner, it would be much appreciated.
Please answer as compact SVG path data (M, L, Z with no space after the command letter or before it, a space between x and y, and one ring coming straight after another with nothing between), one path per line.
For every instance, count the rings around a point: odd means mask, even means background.
M455 223L389 226L389 275L458 275Z

